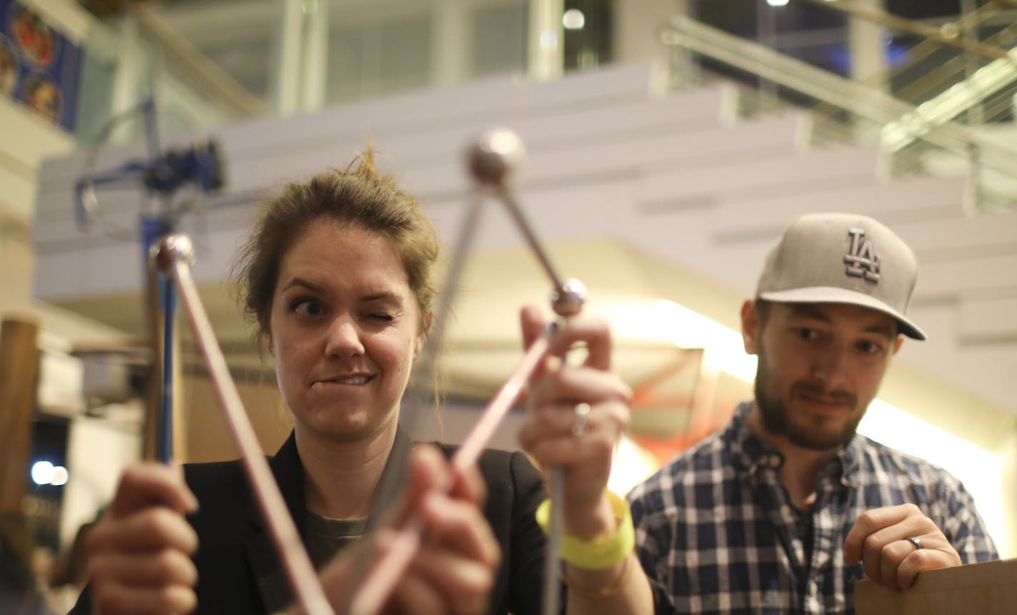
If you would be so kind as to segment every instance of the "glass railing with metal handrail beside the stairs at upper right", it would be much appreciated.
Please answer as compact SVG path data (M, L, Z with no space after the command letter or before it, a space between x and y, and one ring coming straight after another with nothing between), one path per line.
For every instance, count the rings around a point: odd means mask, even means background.
M1017 204L1017 11L990 2L931 25L855 2L798 4L843 18L825 44L845 62L831 66L829 50L817 61L778 33L754 41L677 15L659 33L672 81L733 79L743 114L804 107L816 145L878 141L893 172L966 172L975 207Z

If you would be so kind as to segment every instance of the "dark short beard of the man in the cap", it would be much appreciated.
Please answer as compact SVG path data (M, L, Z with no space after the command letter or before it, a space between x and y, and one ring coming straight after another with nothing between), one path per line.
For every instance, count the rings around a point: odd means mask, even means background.
M805 425L791 421L787 405L777 395L770 395L767 390L769 375L763 350L758 353L759 368L756 370L756 405L759 406L763 418L763 427L773 435L785 436L795 446L812 450L832 450L847 444L854 437L858 423L864 413L844 425L840 433L825 434L810 429ZM810 395L827 395L834 397L850 408L857 408L857 396L847 391L827 391L822 382L799 380L791 385L791 396L799 393Z

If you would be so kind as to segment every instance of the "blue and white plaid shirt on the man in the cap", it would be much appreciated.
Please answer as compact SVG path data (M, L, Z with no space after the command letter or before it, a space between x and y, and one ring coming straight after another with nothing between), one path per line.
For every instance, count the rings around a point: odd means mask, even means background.
M863 572L844 564L844 540L861 512L881 506L917 505L964 563L999 558L960 481L856 435L820 472L805 561L783 457L745 426L752 404L629 495L658 615L854 613Z

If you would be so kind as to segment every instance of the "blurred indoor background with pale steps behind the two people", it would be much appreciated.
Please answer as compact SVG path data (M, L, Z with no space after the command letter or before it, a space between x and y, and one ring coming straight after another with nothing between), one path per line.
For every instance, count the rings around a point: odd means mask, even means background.
M258 200L373 142L451 248L463 150L493 125L526 143L520 201L636 390L616 491L751 395L738 309L779 231L856 211L914 248L930 333L860 431L960 477L1017 556L1015 43L1014 0L0 0L0 538L19 582L65 610L75 536L154 454L145 225L193 237L271 453L287 412L228 280ZM417 437L463 437L521 357L519 307L550 290L488 203L442 411L406 413ZM176 456L232 458L178 324Z

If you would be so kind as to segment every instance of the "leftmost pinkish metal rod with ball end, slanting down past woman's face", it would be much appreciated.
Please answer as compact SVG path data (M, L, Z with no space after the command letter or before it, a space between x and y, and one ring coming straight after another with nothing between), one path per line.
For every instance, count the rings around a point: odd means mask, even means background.
M279 486L272 476L268 463L264 458L260 444L251 427L250 420L244 412L240 393L237 391L233 378L230 377L226 358L223 356L208 316L201 305L197 287L190 275L189 263L190 240L183 235L170 235L159 244L154 257L156 264L163 270L168 270L183 300L184 308L190 319L198 347L204 356L212 376L220 405L226 415L234 442L240 449L244 469L250 480L261 512L271 531L273 541L279 551L283 566L290 578L304 613L308 615L333 615L317 573L311 565L307 552L304 550L300 535L297 533L293 518L286 507L286 502L279 491Z

